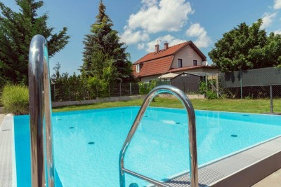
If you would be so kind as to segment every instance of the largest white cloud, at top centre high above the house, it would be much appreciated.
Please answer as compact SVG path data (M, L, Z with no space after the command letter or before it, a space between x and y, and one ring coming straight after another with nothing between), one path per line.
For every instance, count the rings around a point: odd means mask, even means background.
M130 29L141 28L148 33L179 31L192 13L185 0L143 0L138 13L130 15Z

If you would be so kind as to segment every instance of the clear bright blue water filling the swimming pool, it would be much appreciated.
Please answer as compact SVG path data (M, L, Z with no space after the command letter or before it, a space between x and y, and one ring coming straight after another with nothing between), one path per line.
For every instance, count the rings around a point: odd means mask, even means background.
M57 186L119 186L119 151L138 106L53 113ZM281 116L195 111L199 165L281 134ZM15 116L18 186L30 186L28 116ZM131 141L125 167L153 179L189 169L188 123L183 109L148 108ZM126 186L145 182L126 175Z

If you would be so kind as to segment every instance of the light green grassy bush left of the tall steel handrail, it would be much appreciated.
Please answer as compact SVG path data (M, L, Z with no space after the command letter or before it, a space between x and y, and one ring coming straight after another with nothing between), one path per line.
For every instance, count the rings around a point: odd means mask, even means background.
M28 88L24 85L5 85L1 95L5 113L27 114L29 106Z

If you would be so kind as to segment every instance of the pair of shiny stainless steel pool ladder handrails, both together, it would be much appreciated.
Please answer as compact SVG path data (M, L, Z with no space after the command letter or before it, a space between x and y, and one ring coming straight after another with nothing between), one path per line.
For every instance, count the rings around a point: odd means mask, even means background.
M53 140L51 134L51 90L48 64L48 47L44 36L36 35L30 43L29 54L29 90L30 90L30 141L31 141L31 172L32 186L54 186L53 166ZM160 94L168 92L181 100L188 111L189 134L189 160L190 160L190 186L198 186L197 148L195 111L186 95L171 85L161 85L153 89L145 98L138 115L129 131L128 136L119 154L119 179L120 187L125 186L124 174L131 174L148 181L156 186L169 187L165 183L150 179L124 167L124 156L133 134L136 132L145 110L152 99ZM45 139L44 139L45 137Z

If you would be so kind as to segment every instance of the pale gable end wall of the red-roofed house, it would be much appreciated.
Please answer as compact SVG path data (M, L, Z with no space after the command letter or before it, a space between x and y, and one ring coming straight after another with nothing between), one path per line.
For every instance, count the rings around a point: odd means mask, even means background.
M182 48L178 53L176 53L174 60L172 62L171 68L178 68L178 58L183 60L183 67L192 67L193 60L197 60L197 65L202 65L202 58L198 55L195 50L193 50L190 45Z

